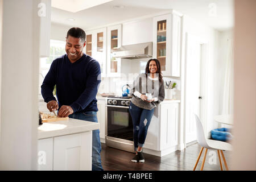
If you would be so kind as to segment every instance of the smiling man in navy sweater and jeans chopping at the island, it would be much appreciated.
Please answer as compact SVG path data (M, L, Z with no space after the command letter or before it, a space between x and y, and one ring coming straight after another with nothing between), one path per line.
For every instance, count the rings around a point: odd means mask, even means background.
M86 44L85 32L71 28L67 33L65 55L53 60L41 86L44 102L49 111L59 109L59 117L69 117L98 122L96 94L101 81L100 64L82 50ZM53 88L56 85L56 101ZM92 136L92 170L101 166L100 131Z

